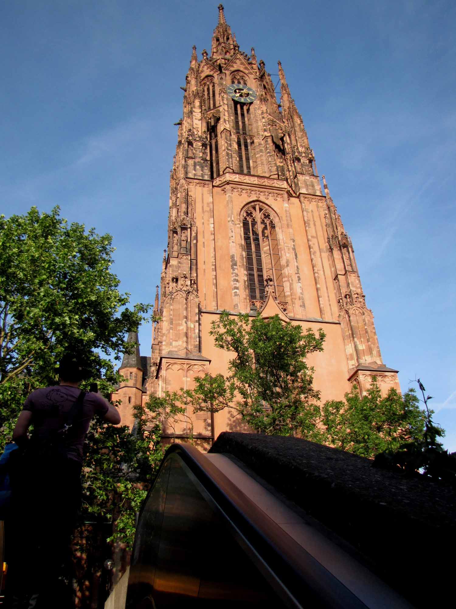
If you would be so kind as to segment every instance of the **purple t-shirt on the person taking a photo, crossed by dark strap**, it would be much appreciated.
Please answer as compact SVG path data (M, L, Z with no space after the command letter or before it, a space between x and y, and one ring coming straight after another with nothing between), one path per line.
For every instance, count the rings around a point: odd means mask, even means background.
M53 431L62 429L69 411L81 390L70 385L57 385L36 389L27 397L23 410L33 413L33 438L45 441ZM84 438L94 415L103 417L108 412L108 404L98 393L86 393L82 407L74 417L67 432L66 453L69 459L82 463Z

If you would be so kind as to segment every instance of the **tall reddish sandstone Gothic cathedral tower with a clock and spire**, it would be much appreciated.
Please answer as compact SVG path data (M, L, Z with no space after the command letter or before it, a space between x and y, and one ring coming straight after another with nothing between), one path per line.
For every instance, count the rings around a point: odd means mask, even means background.
M219 5L210 54L196 48L171 171L168 248L161 274L161 322L153 329L143 399L190 389L195 376L226 373L230 354L215 348L212 320L227 309L279 314L326 333L309 357L322 401L364 392L377 376L382 393L399 389L382 363L365 305L353 245L323 189L302 118L280 62L281 102L264 62L240 51ZM139 356L139 354L138 354ZM140 365L137 364L137 368ZM226 411L188 413L165 437L209 438L242 429Z

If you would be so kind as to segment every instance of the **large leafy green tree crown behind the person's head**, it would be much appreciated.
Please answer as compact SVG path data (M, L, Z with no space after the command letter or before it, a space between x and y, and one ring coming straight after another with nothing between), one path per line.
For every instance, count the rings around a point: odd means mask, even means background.
M105 395L119 381L109 356L130 351L125 333L149 306L128 305L110 272L112 238L60 217L58 207L0 216L0 448L10 439L26 396L57 381L68 351L85 353Z

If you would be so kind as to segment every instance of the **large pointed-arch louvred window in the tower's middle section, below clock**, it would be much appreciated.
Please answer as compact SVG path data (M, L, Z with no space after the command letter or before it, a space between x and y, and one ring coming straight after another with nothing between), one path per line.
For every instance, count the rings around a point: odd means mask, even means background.
M260 203L252 203L244 209L242 220L249 298L263 300L272 292L278 301L285 301L277 229L271 212Z

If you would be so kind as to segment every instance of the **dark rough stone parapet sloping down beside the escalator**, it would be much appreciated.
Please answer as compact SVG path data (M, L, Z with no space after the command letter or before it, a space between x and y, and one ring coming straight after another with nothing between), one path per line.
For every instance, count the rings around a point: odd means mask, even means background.
M441 607L454 596L451 485L379 470L364 457L294 437L223 432L209 452L235 457L291 507L329 530L333 541L361 553L416 607ZM418 585L423 569L435 586Z

